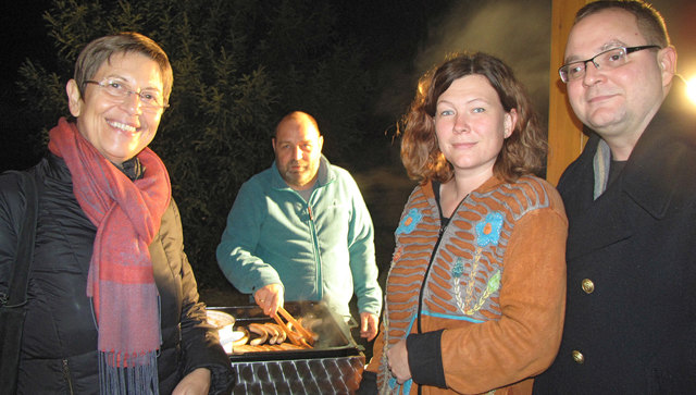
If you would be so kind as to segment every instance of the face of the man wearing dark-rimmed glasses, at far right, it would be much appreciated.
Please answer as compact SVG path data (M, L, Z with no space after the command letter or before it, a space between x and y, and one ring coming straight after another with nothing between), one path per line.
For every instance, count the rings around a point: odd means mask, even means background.
M573 26L564 63L617 47L651 44L656 42L648 42L641 34L633 14L608 9ZM672 48L630 53L626 64L612 70L587 62L585 75L568 83L568 98L577 118L605 139L635 144L660 108L671 82L672 64L663 63L666 51L673 53Z

